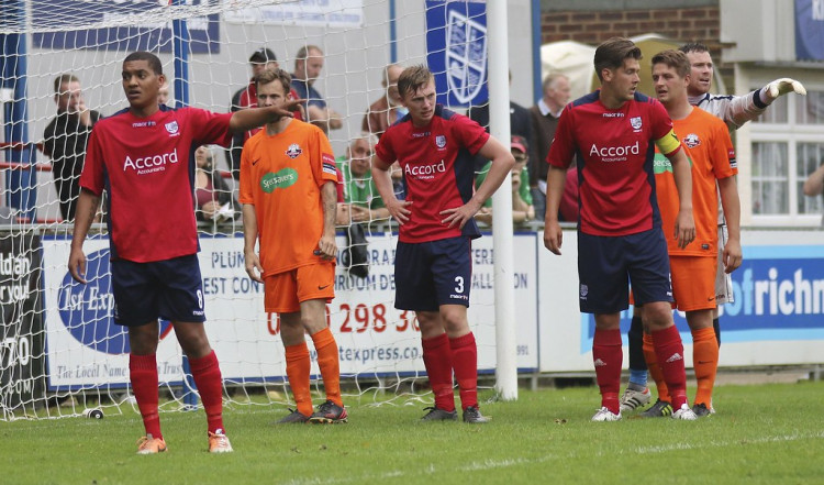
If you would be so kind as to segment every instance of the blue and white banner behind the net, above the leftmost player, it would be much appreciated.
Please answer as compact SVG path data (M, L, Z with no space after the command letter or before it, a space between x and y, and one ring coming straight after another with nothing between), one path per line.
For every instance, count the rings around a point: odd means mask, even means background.
M187 0L186 7L205 4L209 0ZM32 24L37 29L64 25L63 31L35 32L32 42L37 48L97 51L151 51L170 53L171 20L168 11L153 19L143 20L158 7L157 1L122 0L34 0ZM192 54L220 53L220 16L194 15L186 19L191 36ZM116 26L101 26L101 25ZM79 29L78 29L79 26Z

